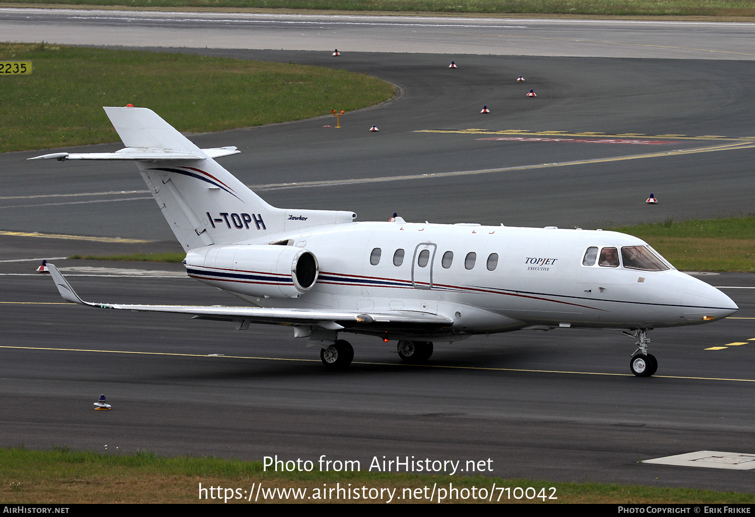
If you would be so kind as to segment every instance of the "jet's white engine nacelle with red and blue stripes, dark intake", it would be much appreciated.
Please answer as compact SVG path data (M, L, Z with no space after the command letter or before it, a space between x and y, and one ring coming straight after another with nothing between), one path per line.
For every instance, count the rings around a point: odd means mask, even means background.
M296 298L315 285L319 274L313 252L275 244L193 249L183 264L190 277L257 298Z

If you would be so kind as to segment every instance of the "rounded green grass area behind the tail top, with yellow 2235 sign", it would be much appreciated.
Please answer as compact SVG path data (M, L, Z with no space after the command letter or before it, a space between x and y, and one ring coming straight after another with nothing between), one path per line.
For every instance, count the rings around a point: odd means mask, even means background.
M0 43L0 60L31 60L0 77L0 152L119 141L103 106L149 107L180 132L307 119L393 95L344 70L225 57Z

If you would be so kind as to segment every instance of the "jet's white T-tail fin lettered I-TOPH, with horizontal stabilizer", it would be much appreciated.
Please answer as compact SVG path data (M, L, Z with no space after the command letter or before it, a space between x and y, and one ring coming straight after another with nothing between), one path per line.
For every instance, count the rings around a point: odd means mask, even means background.
M223 169L213 157L235 147L200 149L153 110L105 107L127 146L116 153L53 153L36 159L130 159L184 249L256 240L297 228L353 221L353 212L278 209ZM274 240L274 237L271 238Z

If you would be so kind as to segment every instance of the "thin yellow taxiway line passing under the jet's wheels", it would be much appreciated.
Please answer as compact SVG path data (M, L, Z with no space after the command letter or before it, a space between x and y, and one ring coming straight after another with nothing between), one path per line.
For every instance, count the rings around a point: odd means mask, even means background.
M0 348L14 348L17 350L47 350L47 351L78 351L78 352L96 352L100 354L136 354L136 355L170 355L184 358L224 358L224 359L249 359L256 361L299 361L305 363L319 363L319 359L287 359L287 358L257 358L244 355L210 355L210 354L175 354L171 352L140 352L140 351L122 351L122 350L89 350L86 348L42 348L35 346L0 346ZM615 377L633 377L630 373L600 373L600 372L574 372L561 370L526 370L524 368L488 368L488 367L458 367L447 366L443 364L401 364L401 363L371 363L366 361L354 361L353 364L368 364L371 366L388 366L388 367L415 367L415 368L441 368L447 370L485 370L494 372L525 372L525 373L569 373L572 375L602 375ZM755 382L755 379L726 379L718 377L689 377L673 375L656 375L658 379L687 379L687 380L718 380L732 382Z

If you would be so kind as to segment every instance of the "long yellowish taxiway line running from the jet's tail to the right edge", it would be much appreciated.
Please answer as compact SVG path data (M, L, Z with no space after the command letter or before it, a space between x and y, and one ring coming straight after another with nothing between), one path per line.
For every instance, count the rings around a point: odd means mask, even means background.
M288 188L300 188L300 187L334 187L338 185L350 185L350 184L364 184L364 183L378 183L382 181L406 181L415 179L430 179L430 178L448 178L451 176L466 176L477 174L491 174L495 172L514 172L525 171L531 169L547 169L550 167L565 167L575 165L588 165L591 163L606 163L606 162L621 162L628 159L641 159L641 158L658 158L661 156L681 156L685 154L695 153L710 153L713 151L723 150L737 150L737 149L750 149L755 147L755 141L750 142L738 142L732 144L720 144L710 147L693 147L692 149L677 149L677 150L664 150L657 151L655 153L646 154L633 154L628 156L614 156L612 158L593 158L593 159L580 159L572 162L560 162L560 163L538 163L526 166L513 166L513 167L501 167L500 169L477 169L473 171L455 171L455 172L432 172L429 174L413 174L405 176L383 176L378 178L351 178L342 180L325 180L325 181L301 181L299 183L271 183L263 185L247 185L252 190L281 190Z

